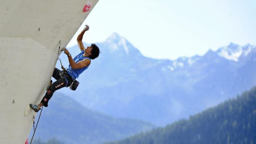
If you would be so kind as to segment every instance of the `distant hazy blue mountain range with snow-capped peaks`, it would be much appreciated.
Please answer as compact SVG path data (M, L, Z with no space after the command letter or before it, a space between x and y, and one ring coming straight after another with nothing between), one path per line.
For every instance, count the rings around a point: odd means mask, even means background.
M96 44L101 54L79 76L78 89L61 92L115 117L162 126L256 85L256 47L250 44L231 43L203 56L176 60L145 57L117 33ZM80 51L78 46L68 49L74 56ZM66 55L60 58L67 67Z

